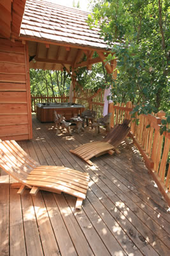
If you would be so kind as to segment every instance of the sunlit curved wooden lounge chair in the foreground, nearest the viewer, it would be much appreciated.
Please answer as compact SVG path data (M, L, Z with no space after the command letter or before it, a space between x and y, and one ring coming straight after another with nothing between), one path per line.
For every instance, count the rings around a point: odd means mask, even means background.
M41 166L34 161L14 140L0 140L0 167L18 180L13 186L19 194L30 188L31 195L39 189L53 193L67 193L76 196L76 208L80 209L85 199L89 174L64 166Z

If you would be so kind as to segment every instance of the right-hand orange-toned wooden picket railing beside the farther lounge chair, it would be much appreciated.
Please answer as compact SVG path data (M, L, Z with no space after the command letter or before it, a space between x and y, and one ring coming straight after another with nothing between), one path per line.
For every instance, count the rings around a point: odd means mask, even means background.
M110 104L109 112L113 113L111 126L122 123L124 118L131 118L132 108L131 102L121 104L121 106ZM160 111L156 115L136 117L139 118L139 124L137 125L134 118L131 118L129 137L138 147L146 167L170 206L170 164L168 163L170 133L160 134L161 120L166 119L165 113Z

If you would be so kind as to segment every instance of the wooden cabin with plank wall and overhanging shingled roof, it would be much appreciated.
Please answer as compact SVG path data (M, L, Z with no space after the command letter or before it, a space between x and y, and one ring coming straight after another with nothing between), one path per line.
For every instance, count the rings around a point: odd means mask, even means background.
M65 68L73 88L78 67L91 69L103 62L107 72L117 76L116 61L105 61L108 45L99 29L87 23L89 13L40 0L3 1L1 10L1 139L32 138L29 68Z

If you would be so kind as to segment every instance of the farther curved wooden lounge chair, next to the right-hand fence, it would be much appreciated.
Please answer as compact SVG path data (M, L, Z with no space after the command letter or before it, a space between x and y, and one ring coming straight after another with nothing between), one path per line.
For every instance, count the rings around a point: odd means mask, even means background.
M106 153L111 155L114 153L114 150L117 149L118 145L120 145L130 131L129 122L131 120L125 119L122 124L115 125L103 141L90 142L69 151L92 165L93 163L90 161L90 158Z

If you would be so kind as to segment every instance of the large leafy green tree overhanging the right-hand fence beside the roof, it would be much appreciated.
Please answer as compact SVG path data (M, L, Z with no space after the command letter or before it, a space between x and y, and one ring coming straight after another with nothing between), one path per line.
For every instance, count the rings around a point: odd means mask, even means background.
M168 1L91 2L89 24L100 27L111 50L106 60L117 58L117 80L110 79L113 100L131 100L134 113L168 111Z

